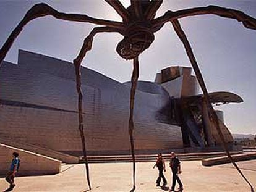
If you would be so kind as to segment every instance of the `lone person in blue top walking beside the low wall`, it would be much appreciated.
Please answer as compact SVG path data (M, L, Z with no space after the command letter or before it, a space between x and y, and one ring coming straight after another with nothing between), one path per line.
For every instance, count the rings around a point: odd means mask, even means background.
M20 159L19 159L19 153L14 152L12 153L12 162L11 167L9 170L9 173L6 176L6 181L10 184L9 188L6 191L11 191L15 184L14 184L14 178L15 174L18 172L20 167Z

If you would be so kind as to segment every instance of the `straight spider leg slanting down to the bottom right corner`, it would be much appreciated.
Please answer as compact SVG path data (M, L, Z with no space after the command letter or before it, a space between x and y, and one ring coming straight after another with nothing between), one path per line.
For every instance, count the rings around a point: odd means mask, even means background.
M207 103L207 107L209 109L208 112L209 112L210 116L213 117L213 123L215 124L216 130L218 131L218 135L221 138L221 143L223 145L223 148L226 151L226 154L227 154L228 158L230 159L230 161L232 162L232 164L234 165L234 167L236 167L237 171L241 174L241 176L244 178L244 180L250 186L251 191L254 191L252 184L249 182L249 180L247 180L244 173L242 173L242 171L237 166L236 162L234 162L234 159L231 157L231 154L229 153L228 146L227 146L226 142L224 141L224 136L223 136L223 133L221 132L221 129L220 129L218 117L216 115L216 112L213 109L213 106L211 105L210 100L209 100L207 87L205 86L205 82L203 80L202 73L200 72L200 69L198 67L198 64L197 64L197 61L195 59L192 48L190 46L189 40L187 39L187 36L184 33L184 31L182 30L181 25L180 25L180 23L177 19L172 20L171 23L173 24L173 28L176 31L177 36L179 36L180 40L182 41L182 43L184 45L184 48L186 49L187 56L189 57L189 60L192 64L195 75L197 76L198 83L199 83L199 85L200 85L200 87L203 91L203 96L204 96L205 102Z

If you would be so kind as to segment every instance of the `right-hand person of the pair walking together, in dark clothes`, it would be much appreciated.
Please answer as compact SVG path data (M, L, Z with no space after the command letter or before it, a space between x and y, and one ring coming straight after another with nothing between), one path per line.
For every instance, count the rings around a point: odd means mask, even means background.
M171 185L171 191L174 191L175 189L176 180L179 183L179 191L182 191L183 185L178 175L181 174L181 162L179 162L179 159L176 157L174 152L171 152L170 167L171 171L173 172L173 183Z

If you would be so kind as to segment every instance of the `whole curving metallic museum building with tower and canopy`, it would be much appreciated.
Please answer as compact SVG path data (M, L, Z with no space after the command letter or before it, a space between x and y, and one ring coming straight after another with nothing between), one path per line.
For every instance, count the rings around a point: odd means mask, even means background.
M81 72L88 154L130 154L130 82L120 83L86 67ZM0 89L0 141L82 154L72 63L19 50L18 64L4 61L0 67ZM210 101L217 105L242 98L215 92ZM216 112L225 140L232 145L223 112ZM155 82L139 81L134 122L137 153L220 144L190 67L168 67L156 74Z

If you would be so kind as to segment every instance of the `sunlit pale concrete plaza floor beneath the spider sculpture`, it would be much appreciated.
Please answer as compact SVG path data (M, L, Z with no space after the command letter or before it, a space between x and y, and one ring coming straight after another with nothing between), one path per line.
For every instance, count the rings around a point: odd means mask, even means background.
M155 180L158 175L157 169L152 169L153 162L137 163L137 190L136 191L164 191L156 188ZM256 160L239 162L242 171L256 186ZM166 163L168 165L168 163ZM132 164L90 164L92 180L92 192L122 192L132 188ZM184 192L249 192L249 187L230 165L218 165L215 167L203 167L200 161L182 162L181 174L184 183ZM168 178L168 186L171 182L169 167L165 173ZM52 191L71 192L86 191L84 165L64 165L58 175L18 177L16 178L14 191ZM0 178L0 191L7 188L4 178Z

